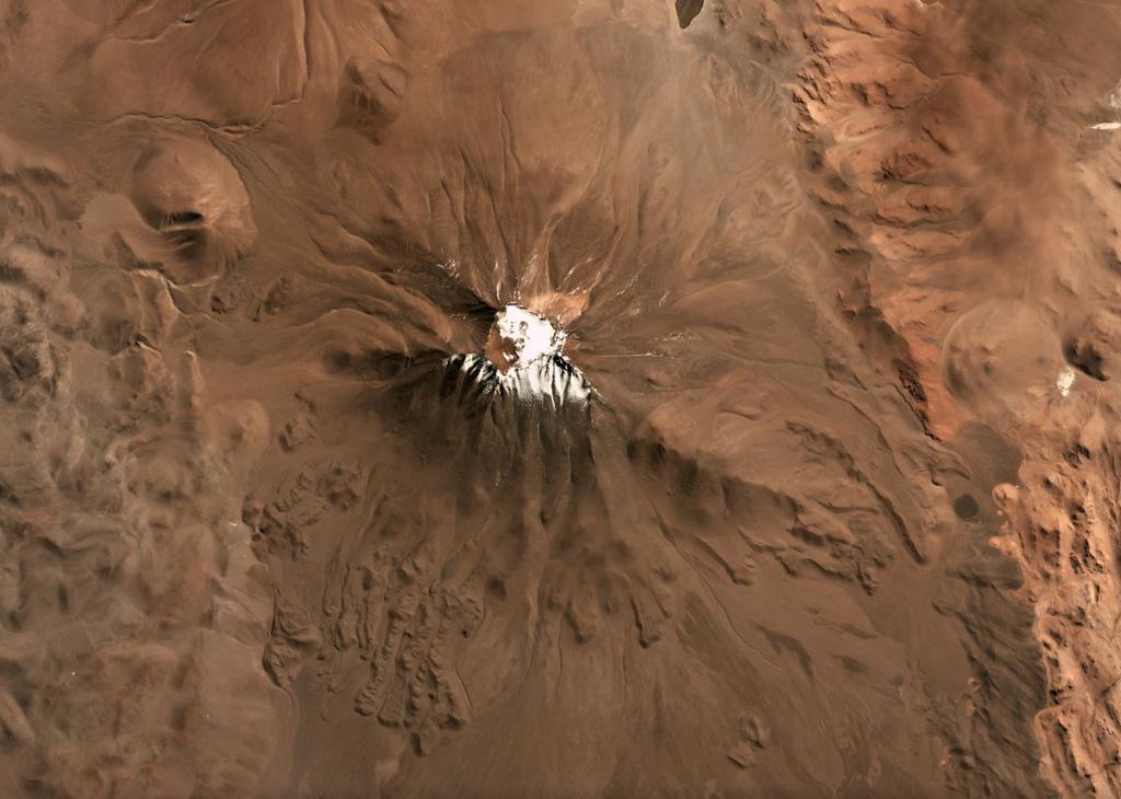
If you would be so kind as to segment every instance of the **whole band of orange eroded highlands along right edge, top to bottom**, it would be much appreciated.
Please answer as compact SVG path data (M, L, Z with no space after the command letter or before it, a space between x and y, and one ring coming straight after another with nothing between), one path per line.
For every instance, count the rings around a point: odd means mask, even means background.
M1110 11L823 1L779 18L806 31L794 93L841 303L1007 513L993 546L1020 563L1047 671L1023 707L1039 771L1117 796ZM993 447L1017 453L1002 477Z

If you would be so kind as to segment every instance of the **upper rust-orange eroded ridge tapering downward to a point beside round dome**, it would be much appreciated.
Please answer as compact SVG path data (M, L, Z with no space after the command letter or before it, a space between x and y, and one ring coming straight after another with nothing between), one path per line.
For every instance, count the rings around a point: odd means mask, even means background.
M818 2L795 101L810 191L835 227L840 296L865 346L937 436L960 416L942 342L991 297L1043 288L1057 253L1057 154L1026 118L1029 68L978 45L969 13ZM1036 296L1031 297L1036 299Z

